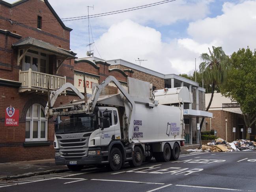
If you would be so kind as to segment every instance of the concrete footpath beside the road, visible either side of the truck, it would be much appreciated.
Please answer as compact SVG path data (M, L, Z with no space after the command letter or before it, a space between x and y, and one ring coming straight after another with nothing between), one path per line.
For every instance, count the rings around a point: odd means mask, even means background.
M189 153L186 149L196 149L198 147L199 145L186 145L185 147L181 147L181 154ZM56 165L54 158L0 163L0 180L18 179L22 177L61 173L65 171L69 171L67 166Z

